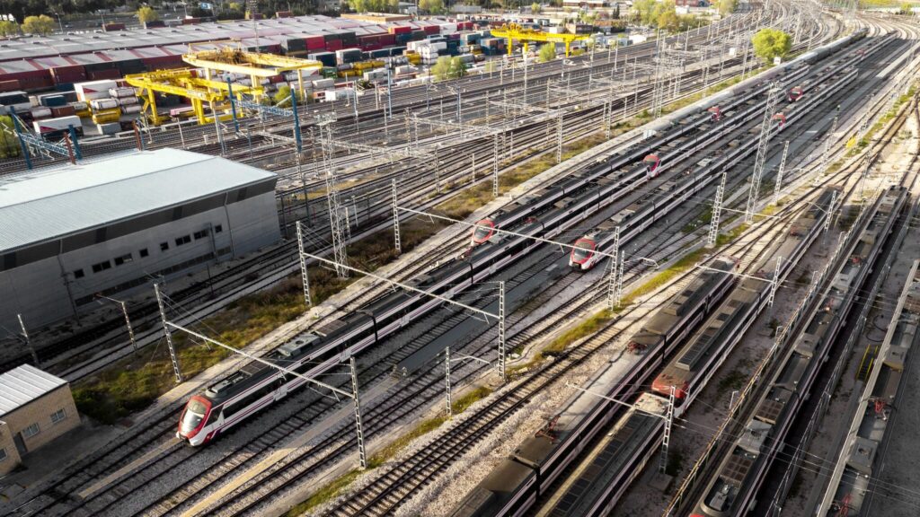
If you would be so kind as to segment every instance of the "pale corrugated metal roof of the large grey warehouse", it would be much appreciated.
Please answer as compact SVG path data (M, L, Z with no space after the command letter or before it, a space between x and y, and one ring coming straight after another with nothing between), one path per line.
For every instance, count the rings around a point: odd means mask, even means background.
M260 183L275 174L157 149L0 179L0 252Z

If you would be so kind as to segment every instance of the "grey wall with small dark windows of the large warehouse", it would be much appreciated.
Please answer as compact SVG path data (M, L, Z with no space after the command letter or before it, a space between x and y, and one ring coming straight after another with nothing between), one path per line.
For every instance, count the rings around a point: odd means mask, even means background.
M218 226L221 231L214 231ZM207 230L208 235L196 239L194 234L202 230ZM158 271L217 251L222 251L215 253L217 260L232 259L277 243L279 234L274 192L270 191L51 259L0 271L0 325L17 329L17 314L22 314L27 327L44 326L73 316L74 308L80 311L91 309L96 304L80 304L81 298L91 298L113 286L144 277L148 278L143 283L121 293L151 289L152 279L149 277ZM177 245L176 239L182 236L189 236L190 242ZM167 244L166 250L161 250L162 243ZM142 249L147 250L146 257L141 257ZM129 253L132 256L130 261L116 265L117 257ZM109 269L93 271L94 264L106 260L109 261ZM169 279L201 270L204 265L202 261L168 273L166 277ZM77 278L77 270L83 271L81 278Z

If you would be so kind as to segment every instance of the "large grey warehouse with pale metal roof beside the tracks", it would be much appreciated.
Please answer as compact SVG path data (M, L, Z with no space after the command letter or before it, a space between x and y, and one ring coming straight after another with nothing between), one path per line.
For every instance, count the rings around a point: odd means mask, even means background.
M278 242L277 176L159 149L0 179L0 325L43 326Z

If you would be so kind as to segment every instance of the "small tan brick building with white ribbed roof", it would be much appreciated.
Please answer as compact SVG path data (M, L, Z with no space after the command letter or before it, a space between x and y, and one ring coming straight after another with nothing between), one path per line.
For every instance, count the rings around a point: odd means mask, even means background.
M29 364L0 374L0 476L79 425L67 381Z

